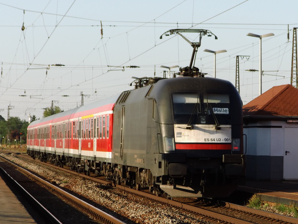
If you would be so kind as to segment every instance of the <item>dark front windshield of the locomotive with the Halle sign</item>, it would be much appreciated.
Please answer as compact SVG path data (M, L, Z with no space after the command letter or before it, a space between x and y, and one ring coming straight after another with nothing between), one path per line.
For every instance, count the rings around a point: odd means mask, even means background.
M173 93L175 124L228 125L231 121L228 94Z

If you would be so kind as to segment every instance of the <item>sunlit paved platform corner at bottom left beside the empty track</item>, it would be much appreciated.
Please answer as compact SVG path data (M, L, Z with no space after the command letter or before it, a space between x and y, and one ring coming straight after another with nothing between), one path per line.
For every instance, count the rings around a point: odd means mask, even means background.
M36 223L1 176L0 223Z

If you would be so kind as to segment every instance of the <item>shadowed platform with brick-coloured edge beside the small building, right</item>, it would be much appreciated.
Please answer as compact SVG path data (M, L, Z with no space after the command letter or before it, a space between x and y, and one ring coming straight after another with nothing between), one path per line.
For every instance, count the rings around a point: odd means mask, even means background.
M246 180L246 184L238 186L237 191L260 194L263 201L298 207L298 181Z

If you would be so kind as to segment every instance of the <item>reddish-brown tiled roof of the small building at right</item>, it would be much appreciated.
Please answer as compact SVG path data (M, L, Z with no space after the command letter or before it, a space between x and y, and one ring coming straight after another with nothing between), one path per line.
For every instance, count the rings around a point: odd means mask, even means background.
M274 86L244 105L243 116L298 116L298 89Z

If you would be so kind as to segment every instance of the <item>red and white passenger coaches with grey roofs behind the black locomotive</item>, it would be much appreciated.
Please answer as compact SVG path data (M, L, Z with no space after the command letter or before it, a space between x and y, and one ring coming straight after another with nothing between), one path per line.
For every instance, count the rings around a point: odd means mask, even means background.
M28 126L27 149L33 157L37 155L57 165L69 161L69 157L111 162L113 108L117 99L114 96L33 121Z

